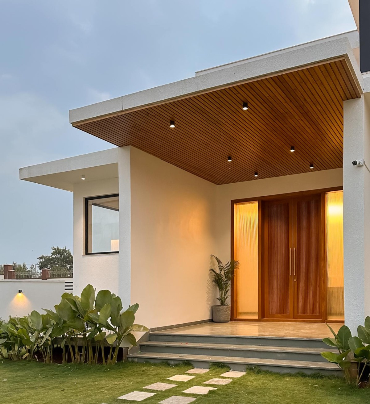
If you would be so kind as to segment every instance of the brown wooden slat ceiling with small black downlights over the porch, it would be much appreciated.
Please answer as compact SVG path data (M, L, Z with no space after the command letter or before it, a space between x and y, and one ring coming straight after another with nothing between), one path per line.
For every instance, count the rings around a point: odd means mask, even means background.
M226 184L342 167L343 101L359 96L343 58L75 126Z

